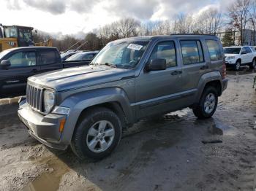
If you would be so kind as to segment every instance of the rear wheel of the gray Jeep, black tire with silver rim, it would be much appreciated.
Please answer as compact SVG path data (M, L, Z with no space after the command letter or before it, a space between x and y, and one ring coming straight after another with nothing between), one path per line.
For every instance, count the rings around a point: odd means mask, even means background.
M206 101L208 102L206 103ZM203 90L203 94L201 95L200 102L197 106L195 106L195 108L193 108L193 113L198 119L210 118L216 111L217 105L218 105L217 90L216 88L209 86L209 87L206 87L205 90Z

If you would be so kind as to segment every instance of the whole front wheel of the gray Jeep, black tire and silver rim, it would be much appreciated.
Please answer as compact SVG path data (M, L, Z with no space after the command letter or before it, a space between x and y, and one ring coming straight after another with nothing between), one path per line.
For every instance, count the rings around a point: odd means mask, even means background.
M102 131L99 128L102 127ZM103 130L104 129L104 130ZM80 117L71 141L71 149L81 160L101 160L110 155L121 139L121 122L110 109L90 109Z

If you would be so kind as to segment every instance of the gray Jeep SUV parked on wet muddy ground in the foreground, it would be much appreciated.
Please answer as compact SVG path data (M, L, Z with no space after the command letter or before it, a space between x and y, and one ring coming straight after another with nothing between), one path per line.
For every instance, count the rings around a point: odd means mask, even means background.
M89 66L29 77L18 116L42 144L101 159L143 117L186 107L211 117L227 88L225 75L217 36L119 39Z

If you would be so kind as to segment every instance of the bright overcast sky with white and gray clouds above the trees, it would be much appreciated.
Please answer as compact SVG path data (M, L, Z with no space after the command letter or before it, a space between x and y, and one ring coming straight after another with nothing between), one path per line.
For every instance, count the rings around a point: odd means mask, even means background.
M0 23L81 36L121 17L172 19L178 13L197 14L208 7L225 10L228 3L230 0L0 0Z

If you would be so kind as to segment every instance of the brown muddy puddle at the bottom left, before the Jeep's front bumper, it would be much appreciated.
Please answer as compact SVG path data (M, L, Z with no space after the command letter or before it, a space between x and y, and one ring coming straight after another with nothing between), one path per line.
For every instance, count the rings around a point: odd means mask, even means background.
M58 158L50 158L48 160L42 160L40 163L46 163L49 168L49 172L38 176L32 182L23 188L24 191L55 191L59 189L59 183L64 174L69 171L69 167L61 162Z

